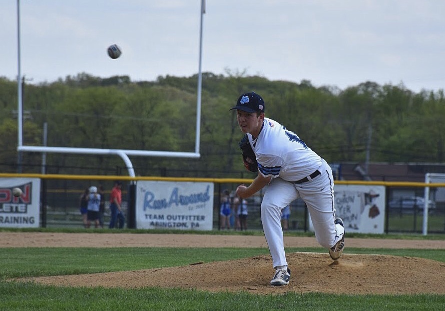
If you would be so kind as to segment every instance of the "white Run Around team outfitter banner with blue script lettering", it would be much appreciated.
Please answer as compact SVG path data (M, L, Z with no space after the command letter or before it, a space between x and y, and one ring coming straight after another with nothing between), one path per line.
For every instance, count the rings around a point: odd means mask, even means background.
M138 229L212 230L213 183L138 181Z

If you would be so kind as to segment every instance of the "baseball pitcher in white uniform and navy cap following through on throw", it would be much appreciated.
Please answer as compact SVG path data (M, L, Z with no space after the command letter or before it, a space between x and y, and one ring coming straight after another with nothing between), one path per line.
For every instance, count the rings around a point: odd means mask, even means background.
M265 117L265 103L258 94L241 95L233 109L258 162L258 176L249 186L239 185L236 194L248 198L267 185L261 221L275 269L270 284L287 285L290 269L280 220L281 210L293 200L300 197L306 203L315 237L331 258L337 260L343 252L344 225L335 217L332 170L295 133Z

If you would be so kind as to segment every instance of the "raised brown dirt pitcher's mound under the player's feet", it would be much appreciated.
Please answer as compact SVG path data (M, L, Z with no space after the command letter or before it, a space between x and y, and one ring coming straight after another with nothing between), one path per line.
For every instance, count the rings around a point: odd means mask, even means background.
M239 260L191 263L188 266L138 271L27 278L63 286L196 288L208 291L249 291L260 294L328 292L345 294L445 294L445 263L416 257L297 252L287 255L288 286L270 286L272 260L261 255Z

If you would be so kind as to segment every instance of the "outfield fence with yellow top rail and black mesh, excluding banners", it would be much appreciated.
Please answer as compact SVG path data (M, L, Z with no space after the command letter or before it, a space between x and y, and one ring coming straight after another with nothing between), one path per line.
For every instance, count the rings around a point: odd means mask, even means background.
M83 227L80 214L80 197L84 190L91 185L105 189L106 209L104 213L105 227L110 221L109 195L114 181L123 183L123 210L126 215L126 227L136 228L135 218L135 193L138 181L158 182L193 182L213 183L213 230L220 229L219 206L221 193L229 190L232 194L236 187L241 184L249 184L252 179L229 179L229 178L175 178L175 177L129 177L129 176L102 176L102 175L56 175L56 174L0 174L4 178L38 178L40 180L40 227ZM442 183L419 183L419 182L384 182L384 181L341 181L337 185L384 187L384 206L379 206L379 213L384 215L384 233L422 233L425 217L423 215L423 204L414 202L412 206L405 206L404 201L394 204L394 196L398 193L411 193L419 198L423 196L426 186L428 193L433 197L436 193L445 190ZM337 190L335 190L337 191ZM341 192L338 192L341 193ZM338 194L336 193L336 194ZM403 196L399 199L403 199ZM247 200L248 217L247 228L261 230L260 205L262 192L257 193ZM398 201L397 201L398 202ZM428 234L445 233L445 204L440 200L434 200L427 213ZM291 215L289 218L290 231L307 231L310 229L309 215L304 202L300 199L290 204ZM0 217L2 217L0 210ZM235 229L236 218L230 217L231 229ZM226 229L227 230L227 229Z

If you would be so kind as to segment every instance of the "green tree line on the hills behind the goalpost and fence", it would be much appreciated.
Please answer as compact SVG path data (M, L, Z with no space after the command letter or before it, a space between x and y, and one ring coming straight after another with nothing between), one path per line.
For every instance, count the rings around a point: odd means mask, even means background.
M128 76L81 73L23 85L23 144L194 152L197 75L133 82ZM235 113L244 92L260 94L270 117L330 163L444 160L443 90L364 82L341 90L227 72L203 73L199 159L131 157L142 176L247 177ZM40 153L17 153L17 82L0 78L0 165L38 173ZM116 156L48 154L48 173L127 174ZM247 175L245 175L247 174Z

